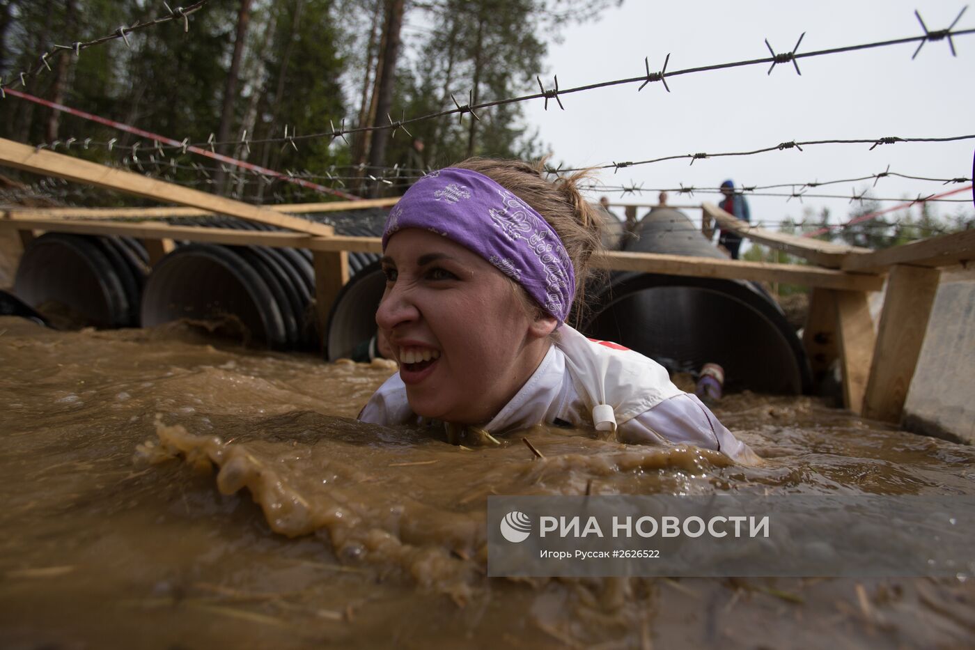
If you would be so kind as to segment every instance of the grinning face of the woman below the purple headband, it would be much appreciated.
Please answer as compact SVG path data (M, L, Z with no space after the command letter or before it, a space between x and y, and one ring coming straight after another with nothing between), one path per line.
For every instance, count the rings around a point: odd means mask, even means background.
M469 249L426 230L389 239L375 320L400 363L416 415L490 420L548 349L556 320L526 313L511 282Z

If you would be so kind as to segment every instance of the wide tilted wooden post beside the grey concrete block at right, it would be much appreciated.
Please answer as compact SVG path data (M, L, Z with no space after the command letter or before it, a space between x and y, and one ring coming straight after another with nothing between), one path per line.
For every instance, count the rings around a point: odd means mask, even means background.
M936 268L898 264L890 269L864 394L865 417L901 421L940 276Z

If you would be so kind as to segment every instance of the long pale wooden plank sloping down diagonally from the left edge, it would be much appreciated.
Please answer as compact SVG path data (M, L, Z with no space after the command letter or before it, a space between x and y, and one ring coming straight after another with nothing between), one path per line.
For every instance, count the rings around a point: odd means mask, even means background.
M157 201L176 203L191 208L209 210L224 215L239 217L252 222L270 223L291 228L298 232L331 235L330 225L313 223L297 217L283 215L267 208L261 208L233 199L208 194L175 183L150 179L133 172L112 169L105 165L66 156L46 149L35 149L20 142L0 139L0 164L22 169L36 174L57 176L68 181L89 183L144 196Z

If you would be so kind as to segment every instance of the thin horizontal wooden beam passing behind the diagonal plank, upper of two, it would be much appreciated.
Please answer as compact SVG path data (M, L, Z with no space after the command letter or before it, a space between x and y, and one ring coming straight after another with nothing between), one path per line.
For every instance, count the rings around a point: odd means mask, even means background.
M300 214L308 212L340 212L395 205L399 196L362 201L331 201L329 203L283 203L260 206L274 212ZM208 217L215 213L196 208L14 208L9 212L22 219L165 219L169 217Z

